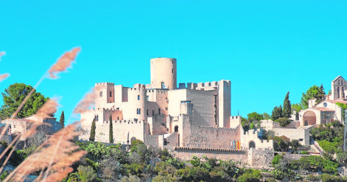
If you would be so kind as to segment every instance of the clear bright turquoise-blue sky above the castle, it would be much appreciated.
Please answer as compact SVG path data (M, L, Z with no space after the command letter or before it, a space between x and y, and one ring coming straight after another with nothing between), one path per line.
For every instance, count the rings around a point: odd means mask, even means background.
M231 114L271 114L347 78L345 1L0 1L0 83L34 86L65 52L73 68L37 88L59 118L96 82L150 83L150 59L177 58L178 83L231 80ZM2 100L2 99L1 99ZM2 101L0 101L2 104ZM71 123L72 119L68 121Z

